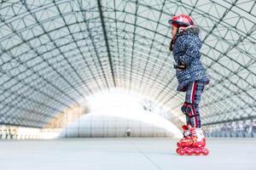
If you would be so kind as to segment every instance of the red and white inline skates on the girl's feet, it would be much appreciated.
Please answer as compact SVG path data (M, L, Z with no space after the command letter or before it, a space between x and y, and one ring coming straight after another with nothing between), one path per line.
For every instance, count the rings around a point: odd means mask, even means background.
M177 154L180 156L200 156L201 154L207 156L209 150L205 148L206 139L201 128L190 127L189 132L189 136L177 143Z

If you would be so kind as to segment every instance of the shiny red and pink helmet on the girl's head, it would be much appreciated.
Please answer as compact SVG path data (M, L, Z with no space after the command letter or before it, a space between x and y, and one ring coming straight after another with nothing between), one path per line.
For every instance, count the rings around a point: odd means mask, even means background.
M186 27L186 26L194 26L195 23L189 15L186 14L178 14L177 16L172 16L172 19L168 21L169 24L176 27Z

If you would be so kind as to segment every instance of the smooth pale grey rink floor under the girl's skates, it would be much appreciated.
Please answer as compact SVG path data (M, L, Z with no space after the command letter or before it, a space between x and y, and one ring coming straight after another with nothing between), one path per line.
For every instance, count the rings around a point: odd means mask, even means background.
M256 139L207 141L209 156L178 156L168 138L0 140L0 169L256 169Z

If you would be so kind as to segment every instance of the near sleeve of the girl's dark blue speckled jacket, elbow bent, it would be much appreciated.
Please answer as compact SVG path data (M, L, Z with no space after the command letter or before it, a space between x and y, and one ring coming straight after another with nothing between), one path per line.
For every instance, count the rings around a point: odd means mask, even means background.
M183 50L183 55L178 57L178 65L182 64L189 66L195 58L201 56L201 41L198 37L182 37L179 45Z

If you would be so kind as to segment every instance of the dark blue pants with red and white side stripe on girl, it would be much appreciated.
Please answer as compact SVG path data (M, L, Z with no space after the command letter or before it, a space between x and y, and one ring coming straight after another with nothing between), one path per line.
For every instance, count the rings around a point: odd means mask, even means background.
M199 103L205 85L206 82L189 82L187 86L186 102L192 105L192 116L186 115L186 121L187 125L190 124L192 127L201 127Z

